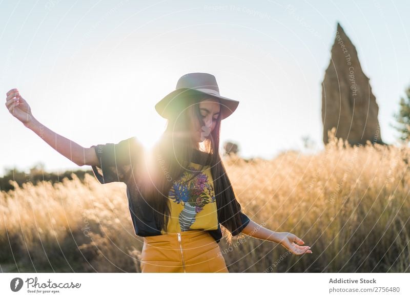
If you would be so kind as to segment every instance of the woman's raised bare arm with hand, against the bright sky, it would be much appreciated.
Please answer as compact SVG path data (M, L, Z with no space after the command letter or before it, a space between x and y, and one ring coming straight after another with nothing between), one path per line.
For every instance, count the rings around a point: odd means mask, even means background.
M42 138L54 150L79 166L99 165L99 160L94 148L85 148L53 132L35 119L31 113L29 104L20 96L17 89L11 89L6 95L6 107L10 114Z

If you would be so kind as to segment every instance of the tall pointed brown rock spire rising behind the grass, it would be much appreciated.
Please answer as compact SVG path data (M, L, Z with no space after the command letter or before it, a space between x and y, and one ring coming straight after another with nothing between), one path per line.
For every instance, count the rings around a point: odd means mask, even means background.
M332 58L322 82L323 142L336 127L336 137L350 144L384 144L377 119L379 107L352 41L337 23Z

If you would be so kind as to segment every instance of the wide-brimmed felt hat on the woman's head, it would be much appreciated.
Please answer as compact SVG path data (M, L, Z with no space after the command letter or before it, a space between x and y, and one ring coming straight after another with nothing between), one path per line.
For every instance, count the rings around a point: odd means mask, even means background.
M163 118L170 118L175 113L182 112L192 101L192 95L205 94L219 99L221 119L230 116L238 107L239 101L219 94L218 83L214 75L209 73L188 73L181 76L174 91L162 98L155 110Z

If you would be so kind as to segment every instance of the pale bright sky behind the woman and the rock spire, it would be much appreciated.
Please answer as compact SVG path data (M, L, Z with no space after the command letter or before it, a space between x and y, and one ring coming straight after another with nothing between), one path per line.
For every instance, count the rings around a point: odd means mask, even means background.
M410 84L407 1L207 3L2 1L3 102L18 88L37 120L85 147L131 136L150 144L165 128L155 103L181 75L208 72L222 96L240 101L221 141L238 143L243 157L302 150L302 136L320 150L321 81L340 22L370 77L381 137L395 142L393 113ZM0 126L2 175L38 162L78 168L4 103Z

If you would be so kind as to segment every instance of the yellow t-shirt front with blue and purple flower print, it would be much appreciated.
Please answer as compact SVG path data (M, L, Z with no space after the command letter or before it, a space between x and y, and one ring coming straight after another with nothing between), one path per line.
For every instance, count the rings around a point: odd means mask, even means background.
M214 183L209 165L195 178L202 165L191 162L188 170L179 180L173 182L169 191L170 218L168 233L186 230L218 229L218 214L215 200ZM196 171L196 172L195 172ZM165 234L162 229L161 234Z

